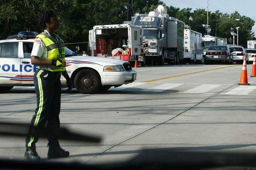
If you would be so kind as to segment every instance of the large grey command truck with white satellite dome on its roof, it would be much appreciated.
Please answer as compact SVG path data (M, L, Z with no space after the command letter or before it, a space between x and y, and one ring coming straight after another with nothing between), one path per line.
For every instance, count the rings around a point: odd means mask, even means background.
M160 5L148 14L136 13L131 23L143 28L143 46L147 65L163 65L164 62L178 64L184 57L185 23L169 17Z

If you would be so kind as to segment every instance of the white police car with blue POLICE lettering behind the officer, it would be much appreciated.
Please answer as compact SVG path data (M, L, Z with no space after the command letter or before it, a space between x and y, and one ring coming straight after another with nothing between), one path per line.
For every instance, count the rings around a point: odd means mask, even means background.
M8 91L14 86L34 86L33 76L38 66L30 63L30 55L35 37L27 37L0 40L0 91ZM73 87L82 94L106 91L137 78L137 72L132 70L129 62L78 56L68 48L66 70L73 80ZM66 87L64 77L61 77L61 84Z

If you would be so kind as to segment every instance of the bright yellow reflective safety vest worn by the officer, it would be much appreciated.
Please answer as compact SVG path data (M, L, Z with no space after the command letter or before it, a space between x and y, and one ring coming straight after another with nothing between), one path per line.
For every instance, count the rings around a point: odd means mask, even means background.
M58 40L55 40L53 37L49 36L49 34L42 32L41 34L37 35L35 40L37 38L40 38L47 49L47 58L44 58L46 60L55 60L60 59L62 62L65 62L65 46L64 41L55 35L55 37ZM65 71L66 68L63 66L57 67L55 65L48 65L48 66L40 66L42 69L47 69L49 71Z

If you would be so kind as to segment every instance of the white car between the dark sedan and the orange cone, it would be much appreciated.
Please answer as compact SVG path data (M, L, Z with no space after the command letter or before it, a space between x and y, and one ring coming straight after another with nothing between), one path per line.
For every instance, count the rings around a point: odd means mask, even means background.
M233 60L236 62L244 62L244 57L246 57L247 64L249 62L248 54L245 51L245 48L240 45L234 45L229 47L231 54L233 55Z

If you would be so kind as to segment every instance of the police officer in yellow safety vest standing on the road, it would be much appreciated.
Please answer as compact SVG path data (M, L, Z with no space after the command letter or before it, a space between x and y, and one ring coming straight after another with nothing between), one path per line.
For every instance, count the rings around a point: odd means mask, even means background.
M49 142L48 159L69 156L69 152L63 150L58 142L61 74L67 80L69 90L72 88L72 82L65 69L64 42L54 34L59 27L54 11L44 11L39 26L44 32L35 38L31 53L31 63L39 65L40 68L34 75L37 108L30 123L25 152L25 159L31 160L40 159L35 143L38 141L37 134L42 133L44 127L46 127Z

